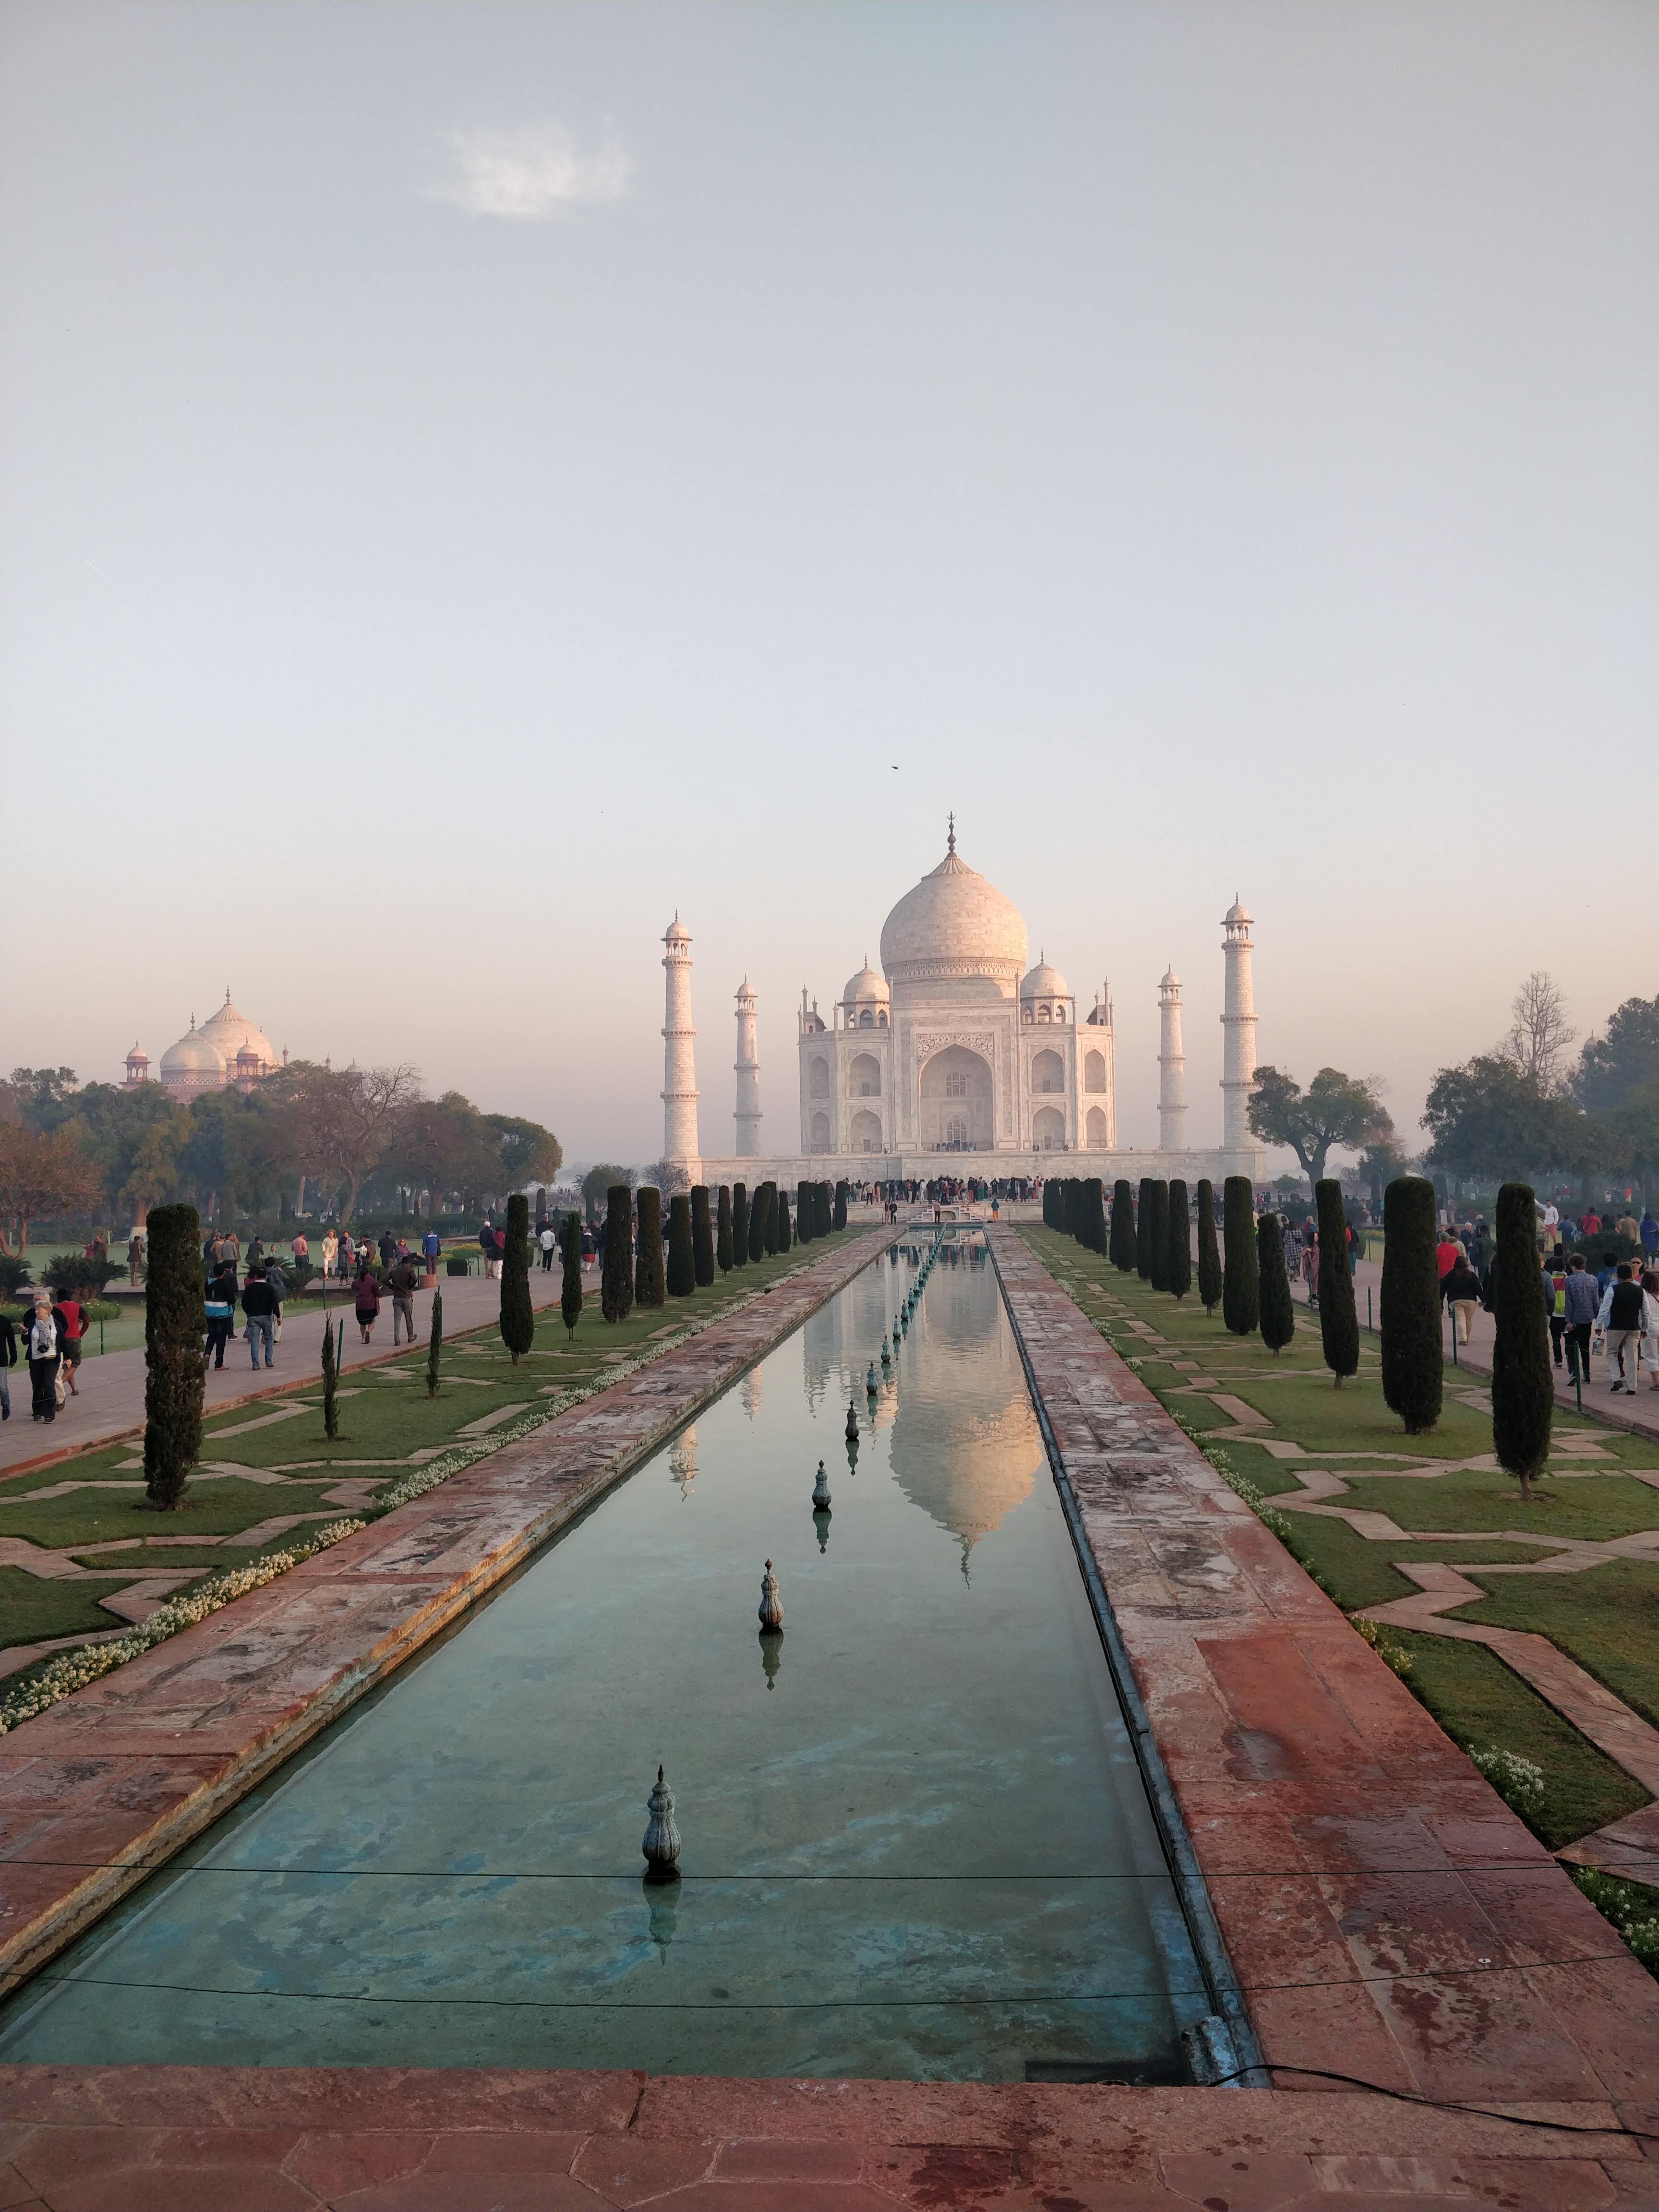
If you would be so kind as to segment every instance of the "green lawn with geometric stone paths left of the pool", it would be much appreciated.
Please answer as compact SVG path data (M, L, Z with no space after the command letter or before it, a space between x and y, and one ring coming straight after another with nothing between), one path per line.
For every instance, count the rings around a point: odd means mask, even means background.
M97 1606L104 1590L119 1588L122 1577L155 1575L177 1566L221 1573L248 1566L272 1551L283 1551L305 1531L281 1533L259 1548L175 1546L146 1537L228 1537L276 1515L305 1515L310 1522L338 1520L352 1506L332 1504L325 1491L343 1478L392 1484L414 1464L411 1453L436 1453L451 1442L471 1442L458 1431L507 1405L551 1409L557 1394L571 1387L604 1383L619 1360L650 1356L681 1340L688 1323L706 1323L728 1312L752 1292L765 1292L781 1276L810 1265L845 1243L841 1237L794 1245L787 1254L734 1267L710 1290L692 1298L672 1298L664 1307L639 1310L615 1325L599 1314L597 1292L588 1294L575 1336L566 1336L557 1307L538 1314L533 1349L513 1365L489 1325L445 1343L440 1389L427 1398L427 1358L416 1347L407 1358L385 1367L365 1367L341 1383L338 1429L330 1442L323 1433L321 1349L323 1316L314 1307L290 1307L283 1343L276 1352L276 1374L316 1376L314 1387L268 1402L239 1405L208 1420L201 1455L217 1467L281 1471L279 1480L248 1482L239 1475L197 1473L175 1513L155 1513L144 1500L144 1475L137 1469L139 1449L128 1440L106 1444L55 1467L11 1475L0 1482L0 1535L24 1537L42 1548L80 1553L84 1544L122 1542L117 1566L111 1555L82 1557L108 1582L40 1579L22 1568L4 1568L0 1579L0 1641L33 1644L51 1637L75 1637L91 1628L115 1626L115 1615ZM440 1287L442 1287L440 1276ZM338 1310L336 1310L338 1316ZM352 1327L349 1316L345 1318ZM385 1325L385 1318L383 1318ZM285 1420L270 1420L299 1407ZM246 1427L261 1422L261 1427ZM511 1422L509 1422L511 1427ZM241 1431L241 1433L239 1433ZM354 1464L354 1462L392 1464ZM53 1498L31 1500L31 1491L60 1491L64 1482L84 1484Z

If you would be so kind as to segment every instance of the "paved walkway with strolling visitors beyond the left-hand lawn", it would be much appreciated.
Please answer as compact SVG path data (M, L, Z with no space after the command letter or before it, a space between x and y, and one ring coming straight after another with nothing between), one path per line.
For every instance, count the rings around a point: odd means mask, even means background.
M584 1290L597 1287L597 1272L582 1279ZM445 1294L445 1336L462 1336L495 1321L502 1310L500 1283L482 1274L440 1276ZM531 1301L535 1307L557 1305L560 1276L531 1270ZM330 1296L330 1312L345 1321L343 1369L372 1367L376 1360L396 1358L392 1345L392 1307L380 1310L374 1327L374 1343L358 1338L352 1321L349 1292ZM416 1340L425 1343L431 1323L431 1292L416 1292ZM206 1407L208 1413L226 1413L248 1398L268 1398L272 1391L296 1389L316 1383L316 1363L323 1349L323 1303L321 1298L292 1298L283 1314L283 1343L276 1347L276 1365L252 1367L248 1345L232 1336L226 1349L226 1365L208 1369ZM88 1451L93 1444L113 1444L122 1436L137 1436L144 1429L144 1347L133 1352L106 1352L104 1358L82 1360L80 1398L71 1398L51 1427L29 1420L29 1376L18 1391L15 1376L11 1389L11 1420L0 1429L0 1478L27 1473L31 1467L51 1467L71 1453Z

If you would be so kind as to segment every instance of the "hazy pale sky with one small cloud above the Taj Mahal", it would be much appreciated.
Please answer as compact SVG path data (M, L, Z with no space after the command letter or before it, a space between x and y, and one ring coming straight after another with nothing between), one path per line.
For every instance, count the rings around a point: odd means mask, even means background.
M0 11L0 1060L765 1137L945 849L1221 1124L1659 989L1659 9ZM1624 880L1621 880L1624 878ZM35 922L40 927L35 927Z

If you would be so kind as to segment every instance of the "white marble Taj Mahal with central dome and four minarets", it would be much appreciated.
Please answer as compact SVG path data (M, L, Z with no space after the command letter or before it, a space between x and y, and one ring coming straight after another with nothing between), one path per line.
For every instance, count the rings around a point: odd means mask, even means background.
M865 956L825 1018L807 991L796 1013L799 1121L785 1146L763 1141L759 1002L737 991L732 1152L699 1144L690 931L675 916L664 936L664 1159L690 1181L847 1175L867 1181L936 1175L1091 1172L1104 1179L1225 1175L1259 1179L1250 1135L1256 1068L1250 914L1234 900L1221 920L1225 962L1219 1146L1188 1137L1181 982L1159 995L1157 1150L1117 1146L1117 1062L1106 984L1079 1015L1066 978L1037 953L1011 898L956 849L905 891L880 931L880 967ZM1088 1166L1053 1155L1086 1155ZM949 1155L949 1157L942 1157Z

